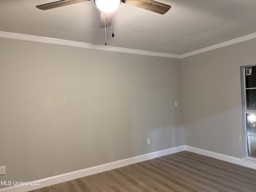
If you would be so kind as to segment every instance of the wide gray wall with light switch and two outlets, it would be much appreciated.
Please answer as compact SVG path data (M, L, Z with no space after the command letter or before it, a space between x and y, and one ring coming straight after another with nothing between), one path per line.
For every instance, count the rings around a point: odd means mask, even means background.
M0 44L0 180L38 180L185 144L180 59Z

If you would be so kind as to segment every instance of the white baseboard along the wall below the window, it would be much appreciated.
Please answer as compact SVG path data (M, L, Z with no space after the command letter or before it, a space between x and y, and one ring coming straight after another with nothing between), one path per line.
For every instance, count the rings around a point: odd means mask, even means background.
M223 155L220 153L215 153L212 151L207 151L207 150L203 150L203 149L199 149L199 148L195 148L195 147L191 147L191 146L186 146L186 151L190 151L193 153L205 155L205 156L216 158L216 159L223 160L226 162L238 164L238 165L245 166L248 168L256 169L256 163L244 160L243 158L240 159L240 158Z

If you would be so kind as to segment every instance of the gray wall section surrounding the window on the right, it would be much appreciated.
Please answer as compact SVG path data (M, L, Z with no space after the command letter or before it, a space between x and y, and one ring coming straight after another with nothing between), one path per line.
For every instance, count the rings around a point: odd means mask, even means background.
M244 156L240 66L256 64L256 39L182 59L186 145Z

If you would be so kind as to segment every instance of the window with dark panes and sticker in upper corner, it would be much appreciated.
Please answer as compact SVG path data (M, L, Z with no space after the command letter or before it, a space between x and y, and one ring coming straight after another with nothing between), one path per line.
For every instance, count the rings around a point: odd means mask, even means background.
M246 157L256 160L256 66L241 67Z

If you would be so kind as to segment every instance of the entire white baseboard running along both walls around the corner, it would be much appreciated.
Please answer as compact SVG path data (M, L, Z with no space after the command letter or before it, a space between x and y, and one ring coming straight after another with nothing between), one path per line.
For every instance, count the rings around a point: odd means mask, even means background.
M147 154L143 154L143 155L139 155L139 156L123 159L123 160L118 160L115 162L102 164L99 166L94 166L94 167L90 167L90 168L86 168L86 169L82 169L82 170L78 170L78 171L74 171L74 172L70 172L70 173L66 173L66 174L61 174L61 175L45 178L42 180L37 180L34 182L32 181L32 185L30 185L30 183L29 183L28 185L10 186L10 187L6 187L6 188L2 188L2 189L0 189L0 192L28 192L31 190L36 190L39 188L43 188L43 187L51 186L54 184L70 181L73 179L77 179L77 178L97 174L100 172L120 168L123 166L127 166L127 165L131 165L134 163L150 160L153 158L158 158L161 156L181 152L184 150L189 151L189 152L194 152L197 154L201 154L201 155L205 155L208 157L216 158L216 159L223 160L226 162L238 164L238 165L245 166L248 168L256 169L256 163L254 163L254 162L250 162L250 161L247 161L244 159L240 159L240 158L236 158L236 157L232 157L232 156L228 156L228 155L224 155L224 154L219 154L216 152L212 152L212 151L208 151L208 150L204 150L204 149L200 149L200 148L183 145L183 146L178 146L178 147L160 150L160 151L156 151L156 152L152 152L152 153L147 153ZM36 185L36 184L39 184L39 185Z

